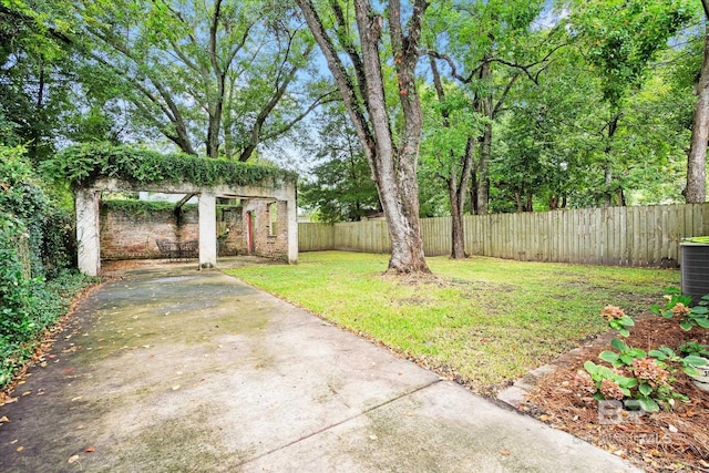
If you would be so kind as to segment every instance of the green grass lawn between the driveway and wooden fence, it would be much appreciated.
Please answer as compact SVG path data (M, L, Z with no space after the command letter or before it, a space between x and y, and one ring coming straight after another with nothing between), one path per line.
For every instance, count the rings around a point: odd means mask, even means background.
M427 258L434 278L382 273L388 255L321 251L297 266L226 270L483 394L607 330L610 304L649 313L679 271Z

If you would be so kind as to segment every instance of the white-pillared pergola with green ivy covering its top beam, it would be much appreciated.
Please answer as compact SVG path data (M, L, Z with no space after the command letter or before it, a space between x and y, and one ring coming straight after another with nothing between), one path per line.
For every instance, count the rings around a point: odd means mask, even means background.
M79 269L101 273L100 213L103 192L158 192L198 196L199 268L217 264L216 198L263 198L286 205L288 263L298 259L298 220L294 173L254 165L109 144L72 146L47 163L68 181L76 205Z

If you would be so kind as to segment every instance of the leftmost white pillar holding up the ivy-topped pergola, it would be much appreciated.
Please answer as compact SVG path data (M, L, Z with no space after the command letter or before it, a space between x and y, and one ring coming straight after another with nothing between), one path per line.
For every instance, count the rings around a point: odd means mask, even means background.
M76 248L79 270L84 275L101 273L101 244L99 238L99 193L81 188L76 192Z

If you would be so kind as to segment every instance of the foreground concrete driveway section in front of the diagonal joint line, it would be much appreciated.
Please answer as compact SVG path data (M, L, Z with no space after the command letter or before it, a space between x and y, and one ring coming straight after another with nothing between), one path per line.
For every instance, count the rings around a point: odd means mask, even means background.
M620 459L439 382L247 462L248 472L614 472Z

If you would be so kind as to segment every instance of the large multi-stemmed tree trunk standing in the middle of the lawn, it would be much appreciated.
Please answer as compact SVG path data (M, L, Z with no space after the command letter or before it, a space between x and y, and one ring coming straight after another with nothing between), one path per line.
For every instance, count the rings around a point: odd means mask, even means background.
M329 8L316 8L311 0L296 1L335 76L371 167L392 244L389 270L429 273L419 223L422 113L414 75L428 3L414 0L402 12L399 0L383 2L391 48L384 52L384 16L369 0L332 1ZM403 17L408 18L405 33ZM398 123L388 109L388 79L397 83Z

